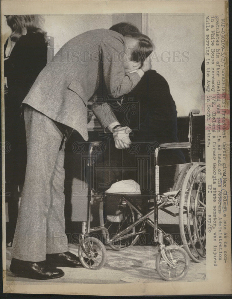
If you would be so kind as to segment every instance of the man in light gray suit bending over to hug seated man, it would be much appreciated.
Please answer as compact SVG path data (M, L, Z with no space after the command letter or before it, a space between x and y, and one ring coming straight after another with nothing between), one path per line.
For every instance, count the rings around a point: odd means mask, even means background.
M145 48L138 48L138 39L145 39ZM134 37L134 51L145 58L152 51L148 41L142 34ZM127 48L124 37L112 30L74 37L40 72L23 101L28 159L10 265L19 276L51 279L64 275L58 266L80 266L65 234L64 144L73 129L88 140L87 104L102 82L116 98L130 92L151 68L145 60L141 69L125 74ZM113 113L110 118L116 121ZM122 134L123 143L112 131L119 148L129 146L128 132Z

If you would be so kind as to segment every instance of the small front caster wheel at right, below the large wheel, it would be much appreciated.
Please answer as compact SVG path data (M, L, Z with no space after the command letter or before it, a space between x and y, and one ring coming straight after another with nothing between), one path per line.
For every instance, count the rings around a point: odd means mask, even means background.
M173 265L164 260L160 251L155 262L160 277L169 281L184 278L189 270L189 256L186 251L181 247L170 245L165 248L165 253Z

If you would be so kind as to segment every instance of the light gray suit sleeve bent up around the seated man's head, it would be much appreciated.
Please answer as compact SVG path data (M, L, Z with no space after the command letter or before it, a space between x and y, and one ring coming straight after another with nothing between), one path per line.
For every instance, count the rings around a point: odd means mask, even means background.
M114 98L127 94L140 81L139 75L131 73L125 75L123 61L125 61L125 45L120 37L107 36L102 43L103 77L107 91Z

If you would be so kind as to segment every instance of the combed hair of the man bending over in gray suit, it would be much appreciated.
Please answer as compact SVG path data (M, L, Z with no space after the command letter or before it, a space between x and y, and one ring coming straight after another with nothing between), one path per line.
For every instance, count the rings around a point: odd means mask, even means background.
M143 63L154 50L151 39L140 32L129 32L125 36L137 39L138 43L131 53L131 60Z

